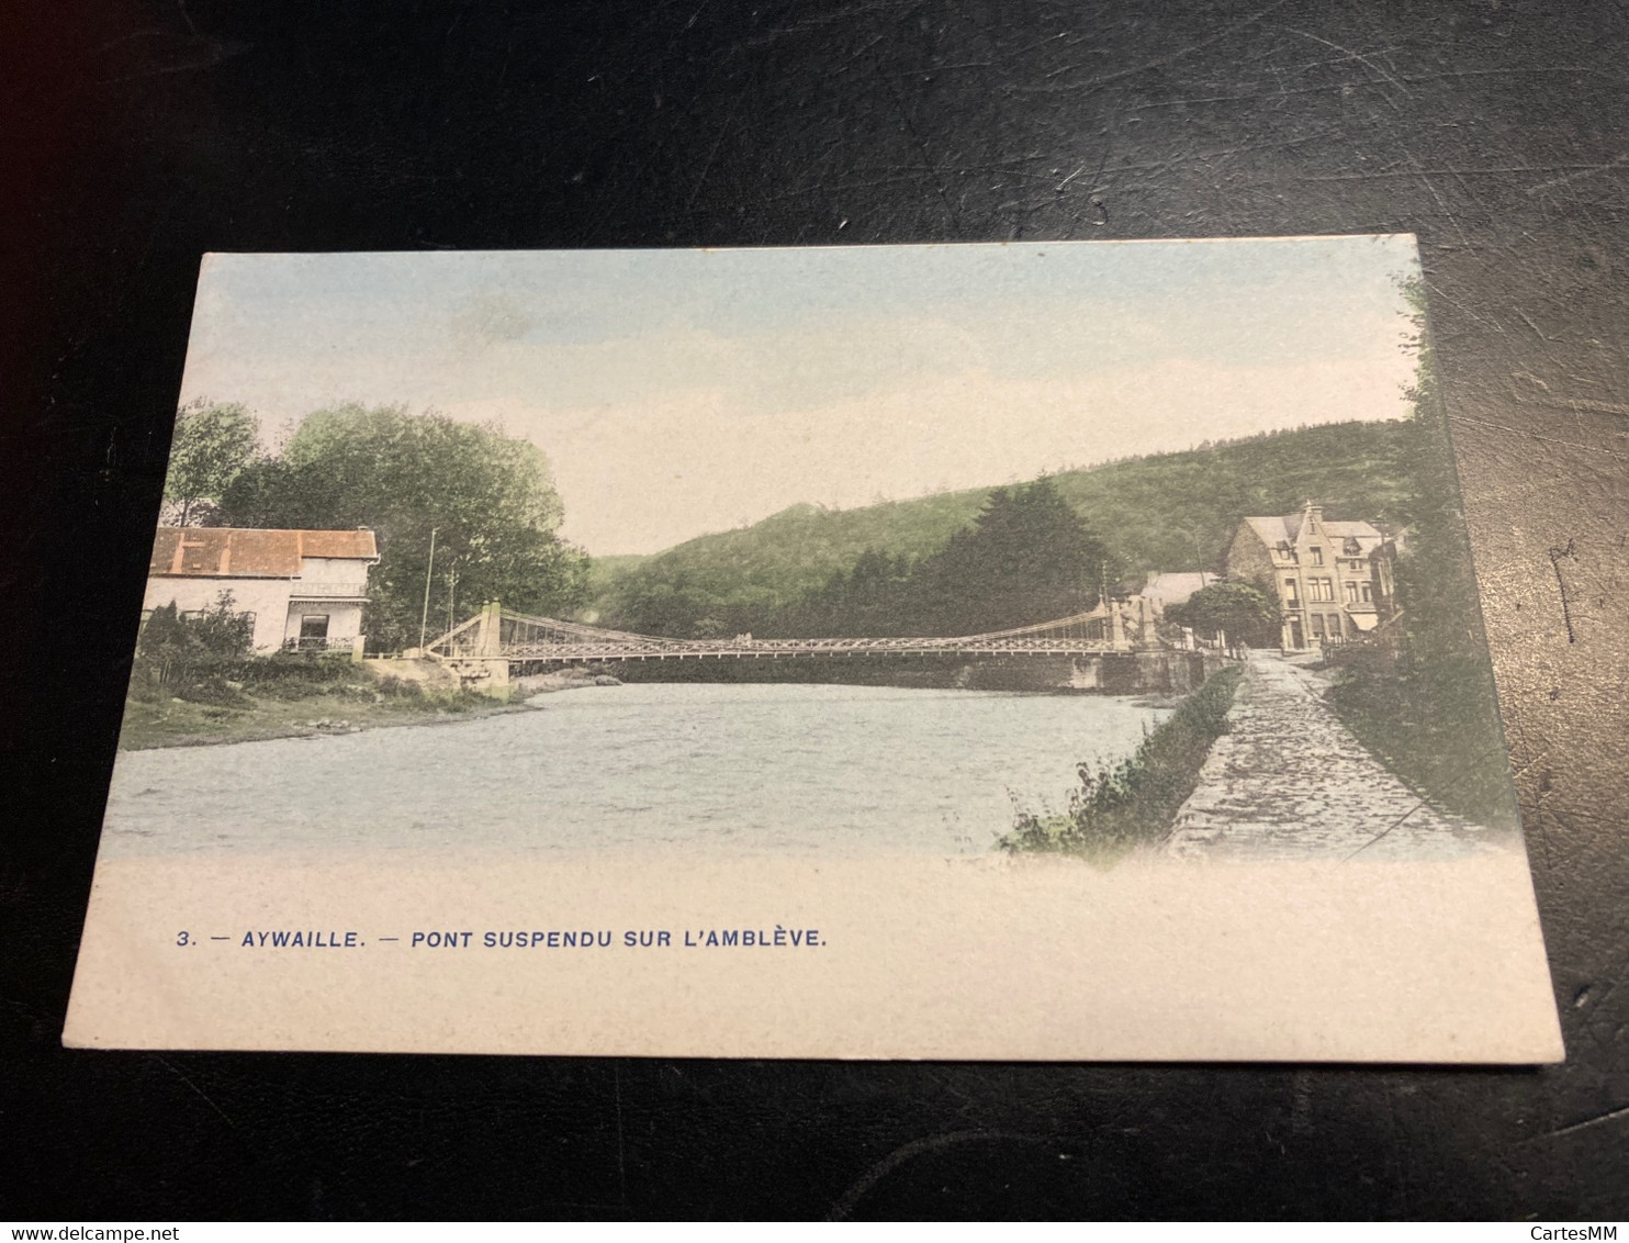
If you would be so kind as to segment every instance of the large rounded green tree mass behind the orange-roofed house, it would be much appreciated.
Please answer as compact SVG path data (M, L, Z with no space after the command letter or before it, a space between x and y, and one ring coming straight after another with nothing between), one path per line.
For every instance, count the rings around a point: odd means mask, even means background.
M432 617L487 600L562 613L586 595L588 559L557 534L562 505L542 451L435 412L347 404L310 414L280 458L252 463L231 482L217 516L238 526L373 528L380 564L367 630L380 648L419 642L427 577Z

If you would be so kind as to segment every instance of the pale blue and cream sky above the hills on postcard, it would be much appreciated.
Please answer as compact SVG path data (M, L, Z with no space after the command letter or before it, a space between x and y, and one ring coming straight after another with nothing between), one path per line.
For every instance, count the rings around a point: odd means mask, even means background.
M1414 239L213 254L182 401L533 440L595 554L1399 419Z

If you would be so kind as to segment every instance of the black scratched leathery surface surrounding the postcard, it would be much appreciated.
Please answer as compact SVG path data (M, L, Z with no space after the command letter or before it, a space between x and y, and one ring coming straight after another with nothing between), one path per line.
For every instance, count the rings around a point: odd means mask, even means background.
M16 0L0 1217L1629 1212L1629 7ZM59 1048L197 256L1416 231L1549 1069Z

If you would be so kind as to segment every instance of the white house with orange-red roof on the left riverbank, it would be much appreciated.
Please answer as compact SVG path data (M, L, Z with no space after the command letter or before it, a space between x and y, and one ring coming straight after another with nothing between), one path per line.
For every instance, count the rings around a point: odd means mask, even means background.
M142 621L174 604L197 614L231 595L252 619L256 652L360 652L373 531L257 531L160 526L147 570Z

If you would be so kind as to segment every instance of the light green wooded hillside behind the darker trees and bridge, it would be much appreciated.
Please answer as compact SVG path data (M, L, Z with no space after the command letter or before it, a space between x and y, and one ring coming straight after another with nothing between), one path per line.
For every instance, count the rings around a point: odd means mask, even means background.
M1411 520L1407 424L1354 422L1274 432L1183 453L1051 476L1109 554L1113 577L1218 570L1246 515L1289 513L1308 497L1329 518ZM823 510L793 505L753 526L699 536L650 557L603 559L585 621L647 634L728 634L797 606L867 551L922 560L966 528L990 489Z

